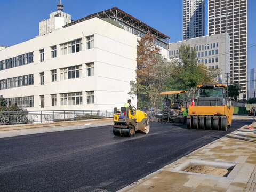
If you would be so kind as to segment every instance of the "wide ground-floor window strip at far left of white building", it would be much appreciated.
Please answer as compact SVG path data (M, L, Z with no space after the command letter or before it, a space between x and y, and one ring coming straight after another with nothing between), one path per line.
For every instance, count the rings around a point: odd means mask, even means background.
M7 105L15 105L18 107L34 107L34 96L6 98Z

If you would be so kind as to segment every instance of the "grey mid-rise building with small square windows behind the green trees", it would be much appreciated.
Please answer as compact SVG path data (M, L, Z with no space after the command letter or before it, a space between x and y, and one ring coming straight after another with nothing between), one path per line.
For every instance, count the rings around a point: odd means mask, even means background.
M169 44L169 58L178 58L182 44L196 47L198 63L204 63L209 69L220 69L221 83L225 82L225 73L229 73L229 35L227 33L203 36Z

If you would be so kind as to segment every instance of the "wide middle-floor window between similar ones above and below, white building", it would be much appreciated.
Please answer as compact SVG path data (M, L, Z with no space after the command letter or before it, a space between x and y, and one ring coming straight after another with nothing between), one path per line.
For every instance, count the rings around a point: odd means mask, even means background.
M60 69L60 80L82 77L82 65Z

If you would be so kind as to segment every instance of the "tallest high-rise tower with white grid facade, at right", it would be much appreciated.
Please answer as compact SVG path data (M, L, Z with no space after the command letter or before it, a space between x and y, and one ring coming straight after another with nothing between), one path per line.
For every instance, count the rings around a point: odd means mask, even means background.
M247 0L209 0L208 34L227 32L230 36L230 83L239 83L241 95L247 91Z

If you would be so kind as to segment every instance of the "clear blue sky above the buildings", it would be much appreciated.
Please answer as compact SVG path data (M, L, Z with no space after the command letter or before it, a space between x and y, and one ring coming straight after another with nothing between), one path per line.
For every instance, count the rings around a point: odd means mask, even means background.
M248 45L256 43L255 0L247 0L249 8ZM77 20L86 15L118 7L147 25L171 37L170 42L182 40L182 0L121 1L121 0L62 0L64 12ZM57 10L58 0L0 0L0 45L15 45L38 35L38 23ZM207 0L205 0L207 7ZM207 10L207 9L206 9ZM207 11L205 14L207 18ZM207 26L207 19L206 19ZM253 32L254 31L254 32ZM207 27L205 29L207 35ZM256 46L248 50L248 68L256 68Z

